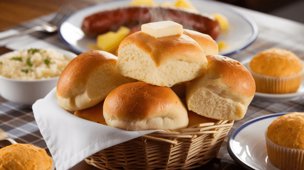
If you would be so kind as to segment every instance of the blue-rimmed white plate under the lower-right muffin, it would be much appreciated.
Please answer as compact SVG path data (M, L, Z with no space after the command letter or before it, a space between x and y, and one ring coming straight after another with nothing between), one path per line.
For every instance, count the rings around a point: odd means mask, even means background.
M280 170L269 162L265 130L275 119L287 113L290 112L254 118L235 129L227 144L231 158L250 170Z

